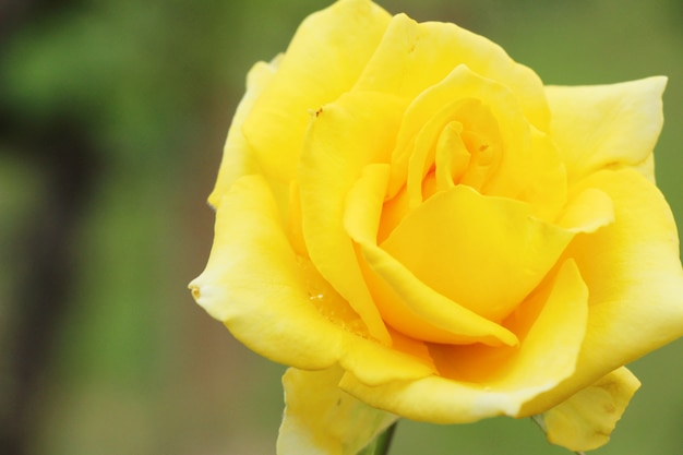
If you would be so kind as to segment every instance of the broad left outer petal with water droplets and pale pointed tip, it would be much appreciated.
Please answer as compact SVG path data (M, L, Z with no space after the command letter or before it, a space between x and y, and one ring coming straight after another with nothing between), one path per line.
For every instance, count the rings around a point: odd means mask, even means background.
M190 288L236 338L276 362L323 369L339 361L372 384L433 371L418 347L370 339L348 303L295 255L261 176L242 177L221 200L208 264Z

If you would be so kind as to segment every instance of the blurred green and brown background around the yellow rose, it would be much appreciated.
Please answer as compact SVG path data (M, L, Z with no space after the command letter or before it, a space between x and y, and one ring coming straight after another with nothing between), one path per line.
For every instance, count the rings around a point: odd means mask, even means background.
M0 2L0 453L273 454L283 367L235 342L187 283L244 74L321 0ZM659 185L683 224L683 3L421 0L547 83L670 77ZM683 344L596 454L679 454ZM565 454L528 420L402 422L393 455Z

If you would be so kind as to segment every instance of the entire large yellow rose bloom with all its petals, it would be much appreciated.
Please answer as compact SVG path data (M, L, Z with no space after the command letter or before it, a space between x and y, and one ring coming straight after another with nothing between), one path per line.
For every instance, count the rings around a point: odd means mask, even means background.
M398 417L541 415L553 443L606 443L639 385L623 366L683 334L664 84L544 86L368 0L256 63L190 287L291 367L279 453L355 454Z

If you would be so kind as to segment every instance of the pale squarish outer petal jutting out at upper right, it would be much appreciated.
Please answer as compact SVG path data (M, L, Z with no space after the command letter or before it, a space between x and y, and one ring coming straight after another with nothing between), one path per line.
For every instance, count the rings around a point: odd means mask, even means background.
M551 135L570 181L607 167L639 166L651 172L647 160L663 123L666 83L666 77L648 77L612 85L546 87Z

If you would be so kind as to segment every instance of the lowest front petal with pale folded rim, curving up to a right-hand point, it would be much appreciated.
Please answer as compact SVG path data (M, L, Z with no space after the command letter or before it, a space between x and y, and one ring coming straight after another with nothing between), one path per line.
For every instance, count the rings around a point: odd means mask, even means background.
M587 300L587 290L576 265L566 261L520 310L538 315L534 320L529 320L528 314L517 315L515 324L530 323L519 347L489 348L491 355L496 349L505 349L506 356L512 352L498 371L491 371L495 366L486 366L492 373L490 376L486 378L477 369L477 355L483 352L472 351L469 358L462 359L466 362L463 369L468 364L471 367L464 372L469 375L468 380L432 375L418 381L371 386L352 373L346 373L340 386L371 406L414 420L466 423L499 415L519 416L525 402L552 390L574 372L585 334ZM448 350L441 352L446 355L445 358L435 357L438 368L446 368L443 371L446 375L454 374L447 366L458 368L460 357L456 350L467 352L468 347L452 349L451 358L447 357ZM506 356L502 356L503 359Z

